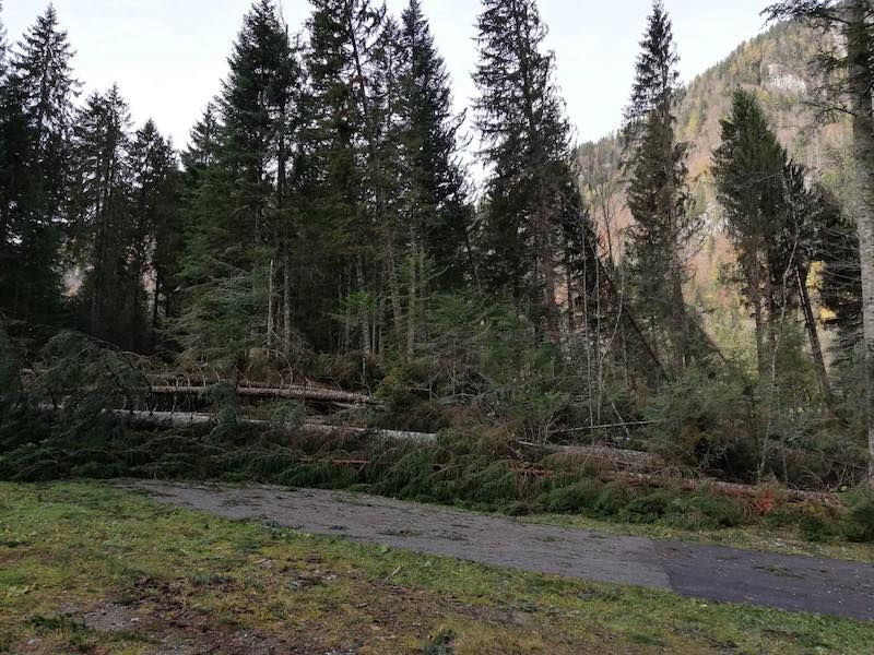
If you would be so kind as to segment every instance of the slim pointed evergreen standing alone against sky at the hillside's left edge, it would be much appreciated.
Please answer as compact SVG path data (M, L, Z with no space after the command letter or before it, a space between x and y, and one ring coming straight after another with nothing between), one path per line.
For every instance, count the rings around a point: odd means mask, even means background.
M640 44L631 100L625 111L629 259L640 313L668 335L674 369L692 356L692 323L683 296L686 251L698 228L689 212L686 151L675 136L678 61L671 20L653 4Z

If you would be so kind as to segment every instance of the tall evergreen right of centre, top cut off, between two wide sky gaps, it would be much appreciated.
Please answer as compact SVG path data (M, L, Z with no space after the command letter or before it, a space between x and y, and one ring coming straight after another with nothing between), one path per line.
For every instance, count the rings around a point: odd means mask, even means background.
M544 332L558 342L557 253L565 225L582 217L575 211L579 194L554 56L542 51L546 27L533 0L485 0L477 28L476 126L489 167L483 275L529 301Z

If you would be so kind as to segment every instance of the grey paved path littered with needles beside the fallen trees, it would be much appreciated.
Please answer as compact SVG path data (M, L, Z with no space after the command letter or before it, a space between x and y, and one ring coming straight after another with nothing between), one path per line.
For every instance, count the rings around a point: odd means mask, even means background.
M523 524L341 491L137 481L157 502L227 519L683 596L874 620L874 564Z

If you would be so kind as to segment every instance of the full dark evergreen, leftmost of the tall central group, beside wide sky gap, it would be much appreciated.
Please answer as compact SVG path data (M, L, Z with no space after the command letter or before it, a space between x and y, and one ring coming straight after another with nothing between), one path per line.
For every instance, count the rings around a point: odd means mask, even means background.
M200 123L194 139L204 143L187 158L199 169L189 170L197 183L188 193L193 206L184 262L191 288L179 329L192 354L216 353L235 368L250 348L271 346L275 334L272 286L286 221L287 114L299 71L271 0L258 0L244 17L229 64L217 117L208 114Z

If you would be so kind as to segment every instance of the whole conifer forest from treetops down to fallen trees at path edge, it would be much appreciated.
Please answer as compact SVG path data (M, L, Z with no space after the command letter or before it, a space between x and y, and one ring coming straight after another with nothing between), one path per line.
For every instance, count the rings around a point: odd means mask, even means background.
M766 12L818 166L756 81L690 141L659 0L583 145L536 0L482 0L462 114L420 0L310 4L255 1L187 144L81 94L51 5L0 26L0 478L874 540L872 2Z

